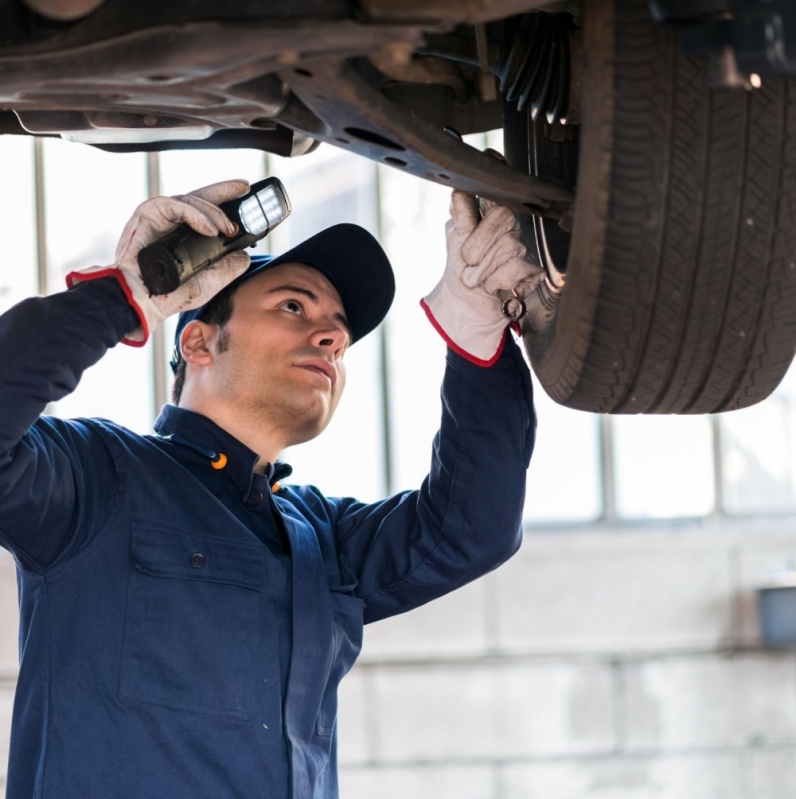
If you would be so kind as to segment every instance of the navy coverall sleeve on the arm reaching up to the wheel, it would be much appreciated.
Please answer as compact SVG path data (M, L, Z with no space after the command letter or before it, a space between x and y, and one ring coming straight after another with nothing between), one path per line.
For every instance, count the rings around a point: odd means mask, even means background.
M442 596L516 552L535 433L530 373L511 337L486 369L448 351L442 421L421 488L339 507L338 552L366 622Z

